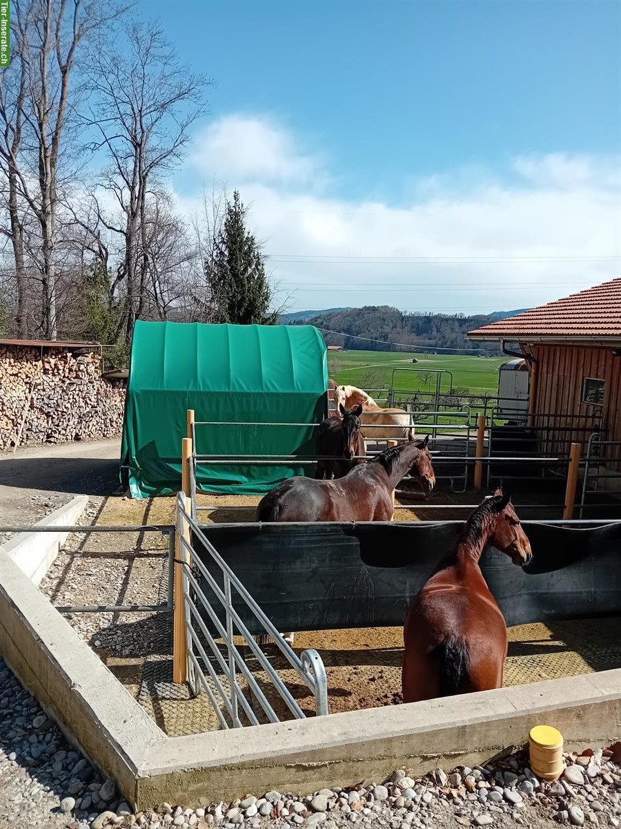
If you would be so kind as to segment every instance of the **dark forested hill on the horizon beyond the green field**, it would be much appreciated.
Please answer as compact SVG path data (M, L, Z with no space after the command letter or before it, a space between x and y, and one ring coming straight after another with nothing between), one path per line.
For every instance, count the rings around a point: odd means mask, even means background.
M442 348L449 350L445 353L450 353L455 349L455 353L459 354L464 348L474 348L479 351L498 353L498 343L469 342L465 338L466 332L497 319L513 317L517 313L522 313L522 310L525 309L465 317L460 314L454 316L407 314L388 305L367 305L364 308L320 312L318 316L312 318L311 322L318 328L344 333L345 336L324 332L325 342L329 346L368 351L400 351L397 343L402 343L419 348L421 351ZM294 324L299 324L299 322ZM385 340L391 345L368 342L355 339L355 337ZM402 350L409 351L410 349Z

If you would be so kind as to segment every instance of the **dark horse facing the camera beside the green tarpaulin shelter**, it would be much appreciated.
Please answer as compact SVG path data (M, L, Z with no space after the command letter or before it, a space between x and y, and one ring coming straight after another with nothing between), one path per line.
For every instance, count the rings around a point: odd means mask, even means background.
M315 478L343 478L354 466L364 463L363 459L353 460L356 455L365 452L364 438L360 431L362 406L345 409L340 404L339 411L341 417L326 418L317 429L317 454L332 455L335 459L317 461Z

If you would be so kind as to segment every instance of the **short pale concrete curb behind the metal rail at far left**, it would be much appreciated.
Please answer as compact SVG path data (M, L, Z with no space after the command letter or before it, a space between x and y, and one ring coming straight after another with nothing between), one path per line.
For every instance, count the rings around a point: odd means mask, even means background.
M35 526L70 526L77 524L89 497L76 495L63 507L37 521ZM0 545L10 559L22 570L36 587L54 563L60 547L65 544L66 532L22 532L6 544Z

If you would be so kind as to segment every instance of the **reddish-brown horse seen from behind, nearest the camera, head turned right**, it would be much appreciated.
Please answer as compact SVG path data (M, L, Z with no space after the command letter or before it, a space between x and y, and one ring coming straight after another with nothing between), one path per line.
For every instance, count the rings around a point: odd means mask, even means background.
M527 565L531 545L500 489L466 521L460 540L419 590L403 628L404 702L503 685L507 626L479 568L486 544Z

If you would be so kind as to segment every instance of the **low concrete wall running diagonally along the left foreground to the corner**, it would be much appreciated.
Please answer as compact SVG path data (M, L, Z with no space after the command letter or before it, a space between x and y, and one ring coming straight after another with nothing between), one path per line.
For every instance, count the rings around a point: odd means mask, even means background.
M2 551L0 653L67 737L132 802L144 747L165 741L164 734Z

